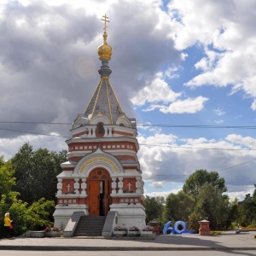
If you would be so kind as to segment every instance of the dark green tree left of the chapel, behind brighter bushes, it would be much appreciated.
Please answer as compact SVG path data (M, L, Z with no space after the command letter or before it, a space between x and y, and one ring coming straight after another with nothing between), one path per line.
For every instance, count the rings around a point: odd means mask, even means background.
M12 158L15 169L15 190L20 193L20 200L32 205L42 197L55 201L57 191L56 176L61 173L61 163L67 160L66 151L60 154L49 152L46 148L34 151L25 143Z

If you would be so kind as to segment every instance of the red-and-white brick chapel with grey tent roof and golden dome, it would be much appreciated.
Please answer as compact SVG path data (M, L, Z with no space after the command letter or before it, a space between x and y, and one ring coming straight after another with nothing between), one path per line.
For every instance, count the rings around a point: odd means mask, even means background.
M101 79L83 114L73 121L67 162L57 176L55 226L65 229L74 212L86 216L108 216L116 212L114 225L129 229L145 227L143 179L137 159L136 119L125 115L113 86L108 67L113 50L107 44L103 16L103 43L97 49Z

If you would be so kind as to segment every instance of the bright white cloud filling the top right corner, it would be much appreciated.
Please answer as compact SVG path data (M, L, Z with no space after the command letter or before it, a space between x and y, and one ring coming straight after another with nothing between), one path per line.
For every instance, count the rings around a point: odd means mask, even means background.
M185 85L230 86L232 93L240 88L247 96L256 97L255 9L256 3L250 0L242 3L240 0L173 0L169 3L170 15L177 17L176 48L201 44L205 49L206 56L195 63L201 73ZM255 110L254 103L252 109Z

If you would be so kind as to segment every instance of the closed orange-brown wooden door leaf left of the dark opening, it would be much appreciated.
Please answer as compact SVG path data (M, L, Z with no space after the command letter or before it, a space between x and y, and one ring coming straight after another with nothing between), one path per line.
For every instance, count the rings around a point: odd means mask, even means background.
M100 184L98 180L90 181L89 214L99 216L100 213Z

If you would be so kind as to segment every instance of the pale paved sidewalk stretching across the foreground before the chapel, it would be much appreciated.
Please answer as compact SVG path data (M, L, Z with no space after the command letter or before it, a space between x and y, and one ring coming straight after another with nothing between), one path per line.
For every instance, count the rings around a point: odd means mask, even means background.
M26 251L245 251L256 250L256 231L226 231L218 236L160 235L154 240L103 237L1 239L0 250ZM1 252L0 252L1 253Z

